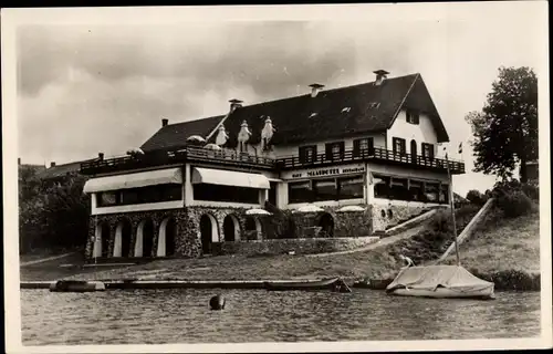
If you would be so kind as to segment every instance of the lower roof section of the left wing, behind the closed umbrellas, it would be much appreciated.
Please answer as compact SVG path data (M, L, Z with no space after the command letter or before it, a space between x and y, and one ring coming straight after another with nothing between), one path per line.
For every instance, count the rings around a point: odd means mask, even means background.
M199 135L204 138L217 126L225 115L168 124L157 131L146 143L140 146L144 152L179 148L186 145L190 135Z

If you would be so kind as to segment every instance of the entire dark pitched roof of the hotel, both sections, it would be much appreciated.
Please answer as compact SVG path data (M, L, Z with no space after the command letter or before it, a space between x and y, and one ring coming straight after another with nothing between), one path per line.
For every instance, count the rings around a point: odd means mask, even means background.
M377 107L373 103L379 104ZM392 126L403 106L427 113L436 127L438 142L449 137L419 74L387 79L380 85L374 82L320 92L315 97L305 94L295 97L239 107L223 122L229 134L227 146L237 145L240 125L248 122L252 136L249 143L259 143L267 116L276 132L272 143L341 138L369 132L383 132ZM344 108L349 110L344 111ZM316 115L313 115L316 114ZM143 145L143 149L179 147L190 135L206 137L225 116L167 125ZM213 142L213 134L210 142Z

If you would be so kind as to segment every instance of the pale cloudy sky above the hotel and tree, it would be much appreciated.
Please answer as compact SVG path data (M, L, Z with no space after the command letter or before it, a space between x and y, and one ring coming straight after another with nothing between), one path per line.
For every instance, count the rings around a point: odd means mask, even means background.
M122 155L161 118L225 114L231 98L247 105L305 94L314 82L369 82L384 69L390 77L421 74L450 157L466 162L455 190L483 191L494 177L471 171L465 116L482 108L500 66L531 66L540 79L546 27L535 4L326 7L302 15L289 8L236 18L221 7L204 17L185 8L164 9L166 21L137 9L103 12L102 21L42 13L15 32L19 156L49 165Z

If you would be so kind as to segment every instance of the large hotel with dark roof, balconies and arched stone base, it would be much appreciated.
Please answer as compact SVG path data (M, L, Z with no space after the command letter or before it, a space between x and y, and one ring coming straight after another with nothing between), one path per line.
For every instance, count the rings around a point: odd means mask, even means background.
M161 127L81 165L91 257L200 257L278 238L378 235L449 202L449 140L420 74L244 105ZM280 221L279 221L280 220ZM285 221L285 227L282 226ZM283 231L284 230L284 231Z

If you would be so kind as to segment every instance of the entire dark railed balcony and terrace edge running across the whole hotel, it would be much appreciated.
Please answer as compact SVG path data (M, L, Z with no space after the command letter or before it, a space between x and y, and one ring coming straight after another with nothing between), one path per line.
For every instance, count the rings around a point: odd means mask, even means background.
M460 160L399 154L382 147L358 150L348 149L332 156L322 153L305 157L289 156L272 159L247 153L236 153L229 149L215 150L191 146L171 152L155 152L136 156L90 160L81 164L81 173L83 175L96 175L164 165L177 165L187 162L210 163L229 167L247 167L258 170L290 170L367 160L441 171L445 171L449 166L452 175L465 174L465 163Z

